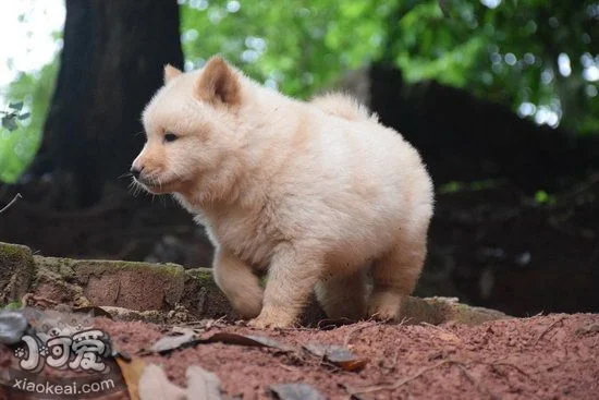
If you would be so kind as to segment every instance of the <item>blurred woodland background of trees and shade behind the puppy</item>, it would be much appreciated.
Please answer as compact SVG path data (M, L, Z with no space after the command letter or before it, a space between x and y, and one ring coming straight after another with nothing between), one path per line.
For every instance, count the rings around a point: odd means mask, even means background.
M0 241L209 266L204 229L169 197L133 196L126 172L163 64L220 52L291 96L349 90L421 151L437 211L416 294L599 311L599 2L21 4L0 5L2 47L39 57L0 52L0 205L23 195Z

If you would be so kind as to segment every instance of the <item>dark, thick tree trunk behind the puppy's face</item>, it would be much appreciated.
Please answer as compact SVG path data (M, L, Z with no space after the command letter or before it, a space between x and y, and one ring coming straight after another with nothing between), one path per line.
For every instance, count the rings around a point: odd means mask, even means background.
M176 0L66 0L64 46L45 138L34 172L73 179L76 205L100 199L106 183L125 184L144 135L140 112L182 68Z

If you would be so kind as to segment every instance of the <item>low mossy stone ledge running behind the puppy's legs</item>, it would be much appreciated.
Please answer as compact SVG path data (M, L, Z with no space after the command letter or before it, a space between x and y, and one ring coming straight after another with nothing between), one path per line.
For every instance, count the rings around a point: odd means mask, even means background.
M33 256L26 246L1 242L0 290L0 300L4 304L33 292L75 306L96 305L140 312L135 313L135 317L149 317L154 315L151 313L168 315L178 307L185 308L198 319L236 317L217 287L210 268L184 270L175 264ZM405 324L457 322L476 325L510 316L462 304L456 299L408 298L402 306L402 317ZM325 318L313 296L302 323L315 325Z

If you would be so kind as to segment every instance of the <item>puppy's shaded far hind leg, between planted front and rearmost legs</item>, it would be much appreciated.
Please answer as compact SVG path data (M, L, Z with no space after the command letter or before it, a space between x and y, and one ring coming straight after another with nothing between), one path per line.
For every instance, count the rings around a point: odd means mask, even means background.
M358 320L365 316L366 282L362 269L343 276L325 274L315 292L329 318Z

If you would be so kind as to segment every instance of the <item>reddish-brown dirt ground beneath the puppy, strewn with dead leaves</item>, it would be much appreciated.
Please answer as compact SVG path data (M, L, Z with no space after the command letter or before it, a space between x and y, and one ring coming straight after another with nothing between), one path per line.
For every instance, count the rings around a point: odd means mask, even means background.
M140 355L139 350L170 331L106 318L98 318L96 327L131 355ZM185 386L186 367L198 364L218 375L230 397L242 399L272 399L268 387L280 383L306 383L330 399L350 399L351 390L362 392L357 399L599 398L598 314L551 314L475 327L364 322L331 330L258 331L215 324L199 335L219 331L269 337L298 350L210 343L142 360L163 366L180 386ZM362 371L342 371L300 350L310 342L346 346L368 362Z

